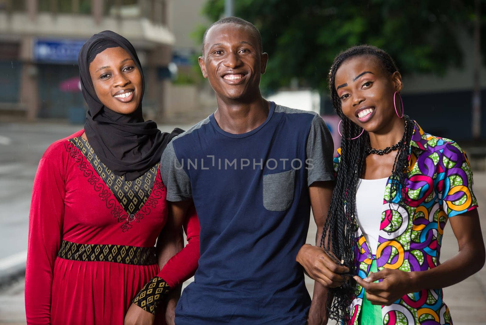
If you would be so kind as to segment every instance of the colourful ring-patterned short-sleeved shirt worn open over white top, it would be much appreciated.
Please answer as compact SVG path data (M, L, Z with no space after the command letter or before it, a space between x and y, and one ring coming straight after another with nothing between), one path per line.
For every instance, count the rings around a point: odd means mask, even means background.
M371 253L359 227L355 233L355 264L365 278L373 259L378 271L425 271L439 264L444 227L449 217L477 208L472 192L472 172L464 151L454 141L424 133L415 123L410 143L409 172L405 189L408 202L400 202L402 191L391 191L387 181L376 255ZM338 171L341 148L334 158ZM392 193L391 193L392 192ZM358 285L348 325L358 325L364 289ZM382 306L383 324L452 324L442 289L424 289L404 295L391 306Z

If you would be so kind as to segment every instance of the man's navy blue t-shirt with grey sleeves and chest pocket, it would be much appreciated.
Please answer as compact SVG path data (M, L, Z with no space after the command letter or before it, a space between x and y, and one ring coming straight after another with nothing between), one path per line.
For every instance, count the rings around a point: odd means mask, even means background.
M322 118L271 103L256 129L232 134L210 115L162 155L167 199L193 199L199 268L177 325L305 324L311 299L295 262L309 228L309 185L333 180Z

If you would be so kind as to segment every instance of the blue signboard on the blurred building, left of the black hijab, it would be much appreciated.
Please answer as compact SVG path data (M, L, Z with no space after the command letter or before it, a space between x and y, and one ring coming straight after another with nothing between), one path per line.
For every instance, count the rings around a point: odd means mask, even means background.
M36 39L34 60L46 63L77 63L79 50L85 43L77 39Z

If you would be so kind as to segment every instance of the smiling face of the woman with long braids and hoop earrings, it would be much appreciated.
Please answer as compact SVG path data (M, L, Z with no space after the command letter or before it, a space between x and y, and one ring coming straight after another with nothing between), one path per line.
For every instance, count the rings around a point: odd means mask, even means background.
M402 87L400 73L390 74L373 55L353 56L344 61L334 82L343 113L368 132L379 132L398 117L393 96Z

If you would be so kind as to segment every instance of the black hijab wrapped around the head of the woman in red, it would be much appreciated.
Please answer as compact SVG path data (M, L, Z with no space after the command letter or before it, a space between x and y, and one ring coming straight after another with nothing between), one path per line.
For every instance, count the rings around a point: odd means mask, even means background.
M183 130L175 128L172 133L162 133L154 121L144 121L141 100L131 114L114 112L100 102L91 81L89 64L96 54L110 47L121 47L135 61L142 76L140 98L143 97L145 81L133 45L112 31L89 37L78 56L81 90L88 106L85 132L89 144L106 167L118 176L124 175L127 181L134 181L160 161L167 144Z

